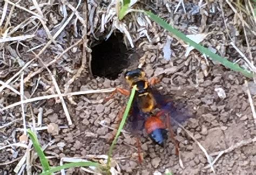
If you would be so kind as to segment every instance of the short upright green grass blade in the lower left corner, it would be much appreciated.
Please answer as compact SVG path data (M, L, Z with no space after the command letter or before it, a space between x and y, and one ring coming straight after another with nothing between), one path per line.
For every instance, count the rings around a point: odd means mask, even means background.
M42 167L43 167L43 171L48 171L50 170L50 165L49 165L49 162L48 162L48 159L46 159L45 155L44 155L44 152L38 142L38 139L37 139L37 136L36 134L31 131L31 129L28 129L28 134L29 134L29 137L33 143L33 146L38 154L38 157L40 159L40 162L42 164Z

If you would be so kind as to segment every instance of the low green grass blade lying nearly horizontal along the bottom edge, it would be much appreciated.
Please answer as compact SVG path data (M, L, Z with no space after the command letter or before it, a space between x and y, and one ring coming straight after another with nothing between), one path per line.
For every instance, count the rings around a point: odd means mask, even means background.
M68 163L68 164L64 164L62 166L52 167L50 170L42 172L41 175L48 175L49 173L55 173L55 172L59 172L60 170L69 169L71 167L80 167L80 166L95 166L95 167L99 167L99 164L95 163L95 162L74 162L74 163Z

